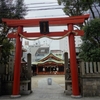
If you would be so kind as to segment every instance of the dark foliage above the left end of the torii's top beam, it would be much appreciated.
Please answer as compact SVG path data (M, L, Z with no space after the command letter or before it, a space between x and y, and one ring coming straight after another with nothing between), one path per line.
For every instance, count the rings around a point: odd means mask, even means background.
M24 0L15 0L14 3L10 3L9 0L0 0L0 22L2 18L24 18L26 9Z

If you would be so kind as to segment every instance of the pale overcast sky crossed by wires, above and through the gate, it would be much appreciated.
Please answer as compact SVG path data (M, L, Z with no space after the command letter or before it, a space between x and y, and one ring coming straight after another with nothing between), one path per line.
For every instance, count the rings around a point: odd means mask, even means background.
M58 6L57 0L24 0L25 4L28 6L28 9L32 9L32 11L28 11L25 16L26 19L32 18L47 18L47 17L64 17L65 14L61 6ZM47 8L52 8L51 10L43 10ZM54 9L53 9L54 8ZM66 27L50 27L50 31L63 31ZM27 32L39 32L38 28L25 28L24 31ZM41 43L47 42L50 44L50 49L59 49L59 40L50 40L48 38L39 39ZM30 44L34 44L36 41L31 41Z

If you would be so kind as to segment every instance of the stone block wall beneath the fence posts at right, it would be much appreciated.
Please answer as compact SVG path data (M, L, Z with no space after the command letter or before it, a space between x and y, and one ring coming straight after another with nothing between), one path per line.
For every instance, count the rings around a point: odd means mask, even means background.
M100 96L100 74L81 77L80 83L81 95L83 97Z

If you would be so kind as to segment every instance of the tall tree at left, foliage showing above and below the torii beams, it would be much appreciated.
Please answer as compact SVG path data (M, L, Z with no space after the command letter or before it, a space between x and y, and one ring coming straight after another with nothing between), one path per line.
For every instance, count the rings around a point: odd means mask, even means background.
M7 64L8 62L13 44L10 42L11 39L7 38L7 34L15 30L3 23L2 18L22 19L26 15L26 10L24 0L15 0L14 3L9 2L9 0L0 0L0 45L3 45L0 63Z

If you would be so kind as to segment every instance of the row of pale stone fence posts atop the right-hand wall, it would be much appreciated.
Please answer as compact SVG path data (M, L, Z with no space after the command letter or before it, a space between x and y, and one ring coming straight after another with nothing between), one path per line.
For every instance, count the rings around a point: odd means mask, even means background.
M100 62L81 62L80 73L81 75L100 74Z

